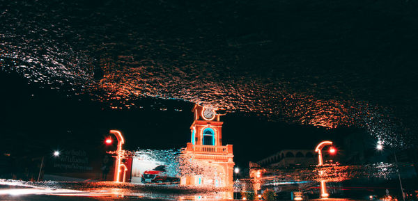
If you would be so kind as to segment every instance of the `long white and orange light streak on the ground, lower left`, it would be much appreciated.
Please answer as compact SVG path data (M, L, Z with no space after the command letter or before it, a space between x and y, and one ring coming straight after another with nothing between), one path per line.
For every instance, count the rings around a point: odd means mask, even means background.
M220 191L220 188L215 190L214 188L185 188L184 186L159 186L114 182L24 182L0 179L0 185L13 186L11 189L0 190L0 195L11 196L57 195L70 197L129 197L164 200L182 200L182 198L185 198L185 200L213 200L214 198L229 199L232 196L232 191ZM16 188L17 186L22 186L22 188Z

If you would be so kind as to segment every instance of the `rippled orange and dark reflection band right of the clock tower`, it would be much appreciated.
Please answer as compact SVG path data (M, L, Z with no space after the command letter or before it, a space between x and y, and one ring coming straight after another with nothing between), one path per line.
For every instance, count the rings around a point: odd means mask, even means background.
M311 166L308 168L281 169L281 168L254 168L250 172L263 171L261 178L240 179L240 184L235 188L246 188L245 186L256 185L256 189L281 188L279 186L292 186L297 184L309 188L315 186L316 182L323 185L328 182L345 182L353 179L376 178L390 179L396 178L396 168L392 163L373 163L362 166ZM254 180L255 179L255 180ZM255 188L255 187L254 187ZM325 189L325 188L322 188ZM324 192L320 192L324 193ZM326 192L325 192L326 193Z

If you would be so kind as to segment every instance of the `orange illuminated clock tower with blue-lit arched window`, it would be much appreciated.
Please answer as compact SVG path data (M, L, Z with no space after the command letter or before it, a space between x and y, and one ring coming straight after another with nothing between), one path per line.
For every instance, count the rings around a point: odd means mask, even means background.
M212 176L198 173L183 176L180 184L185 186L209 185L216 187L233 186L232 145L222 145L222 124L215 108L195 105L194 121L191 130L191 142L182 151L183 156L192 163L204 163L210 166Z

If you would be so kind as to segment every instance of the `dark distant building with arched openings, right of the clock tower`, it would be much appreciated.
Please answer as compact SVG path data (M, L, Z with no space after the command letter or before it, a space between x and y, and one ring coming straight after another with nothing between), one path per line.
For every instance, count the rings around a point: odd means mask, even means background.
M314 150L281 150L257 163L264 167L306 167L318 163Z

